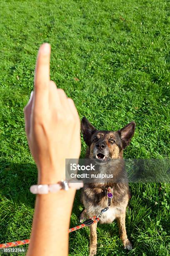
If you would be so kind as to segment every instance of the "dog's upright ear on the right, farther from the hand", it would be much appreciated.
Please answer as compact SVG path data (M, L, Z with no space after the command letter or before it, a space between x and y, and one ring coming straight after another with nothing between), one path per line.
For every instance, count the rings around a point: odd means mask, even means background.
M135 125L135 122L130 122L118 131L122 140L123 148L126 148L129 145L131 138L135 133Z

